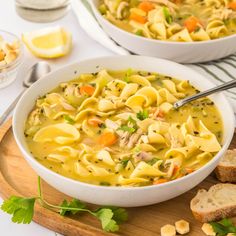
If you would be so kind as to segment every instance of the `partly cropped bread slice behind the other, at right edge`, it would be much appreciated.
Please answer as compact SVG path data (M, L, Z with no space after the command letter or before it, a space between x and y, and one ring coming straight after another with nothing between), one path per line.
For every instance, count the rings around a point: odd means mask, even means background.
M236 183L236 149L228 150L215 169L221 182Z

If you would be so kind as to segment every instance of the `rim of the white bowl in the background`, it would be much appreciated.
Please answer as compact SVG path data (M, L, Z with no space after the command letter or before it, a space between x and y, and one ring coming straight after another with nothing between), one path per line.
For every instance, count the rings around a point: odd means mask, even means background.
M109 26L111 26L114 30L116 31L120 31L121 33L124 33L130 37L134 37L136 39L140 39L140 40L144 40L144 41L147 41L147 42L151 42L151 43L161 43L161 44L172 44L172 45L201 45L201 44L213 44L213 43L217 43L217 42L221 42L221 41L226 41L227 39L231 39L231 38L236 38L236 33L235 34L232 34L232 35L228 35L228 36L225 36L225 37L221 37L221 38L217 38L217 39L211 39L211 40L205 40L205 41L193 41L193 42L178 42L178 41L165 41L165 40L158 40L158 39L152 39L152 38L147 38L147 37L142 37L142 36L138 36L136 34L133 34L129 31L126 31L126 30L123 30L122 28L116 26L115 24L112 24L109 20L107 20L100 12L99 10L97 9L94 1L89 1L89 2L92 2L92 9L93 11L95 12L95 16L96 15L99 15L99 17L104 20L104 22L106 24L108 24ZM96 16L97 18L97 16ZM236 40L236 39L235 39ZM122 46L122 45L121 45ZM129 49L127 49L129 50ZM235 49L236 51L236 49Z

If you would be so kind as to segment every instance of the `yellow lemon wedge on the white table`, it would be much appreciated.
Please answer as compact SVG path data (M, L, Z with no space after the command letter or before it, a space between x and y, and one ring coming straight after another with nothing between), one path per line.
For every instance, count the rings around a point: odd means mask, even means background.
M22 40L37 57L57 58L69 53L72 36L62 27L49 27L24 33Z

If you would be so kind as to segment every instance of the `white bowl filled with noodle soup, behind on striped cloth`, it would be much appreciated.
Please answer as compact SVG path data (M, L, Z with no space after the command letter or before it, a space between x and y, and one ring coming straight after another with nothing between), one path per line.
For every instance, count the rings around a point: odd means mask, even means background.
M196 63L236 51L235 2L178 2L90 0L90 5L104 31L135 54Z

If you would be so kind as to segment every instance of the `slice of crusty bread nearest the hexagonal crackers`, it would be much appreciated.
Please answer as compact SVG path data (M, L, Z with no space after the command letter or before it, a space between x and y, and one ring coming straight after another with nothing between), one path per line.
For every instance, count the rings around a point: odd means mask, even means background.
M194 217L201 222L236 216L236 184L216 184L200 189L190 202Z

